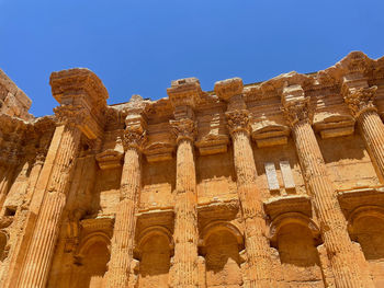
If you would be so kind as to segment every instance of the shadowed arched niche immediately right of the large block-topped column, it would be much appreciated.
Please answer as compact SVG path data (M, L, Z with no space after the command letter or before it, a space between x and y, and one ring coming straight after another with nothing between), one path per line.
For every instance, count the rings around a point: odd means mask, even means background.
M110 239L103 232L86 237L79 244L76 254L76 266L72 275L72 287L102 288L106 264L110 261Z

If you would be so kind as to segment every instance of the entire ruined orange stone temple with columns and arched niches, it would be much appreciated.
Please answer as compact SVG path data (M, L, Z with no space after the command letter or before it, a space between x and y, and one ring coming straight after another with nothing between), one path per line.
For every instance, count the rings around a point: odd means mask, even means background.
M0 287L384 287L384 57L108 105L0 72Z

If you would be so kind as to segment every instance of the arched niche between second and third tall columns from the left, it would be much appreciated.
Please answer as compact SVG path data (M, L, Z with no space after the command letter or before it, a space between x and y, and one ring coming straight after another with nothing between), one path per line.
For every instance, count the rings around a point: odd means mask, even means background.
M167 228L156 226L145 229L139 234L135 249L135 257L139 261L137 287L169 287L172 254L173 239Z

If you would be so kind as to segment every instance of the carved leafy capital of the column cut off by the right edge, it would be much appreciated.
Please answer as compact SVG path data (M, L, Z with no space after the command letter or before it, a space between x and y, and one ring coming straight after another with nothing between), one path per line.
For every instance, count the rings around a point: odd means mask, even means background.
M377 87L360 88L346 94L345 101L353 117L358 118L365 111L376 111L373 104L376 90Z

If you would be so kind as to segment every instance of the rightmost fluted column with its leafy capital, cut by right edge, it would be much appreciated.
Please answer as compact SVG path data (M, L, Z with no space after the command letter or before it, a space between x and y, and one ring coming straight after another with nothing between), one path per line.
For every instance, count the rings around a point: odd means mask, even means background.
M349 89L345 101L358 122L377 176L384 183L384 124L373 104L376 90L377 87Z

